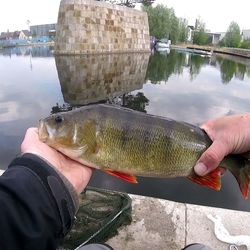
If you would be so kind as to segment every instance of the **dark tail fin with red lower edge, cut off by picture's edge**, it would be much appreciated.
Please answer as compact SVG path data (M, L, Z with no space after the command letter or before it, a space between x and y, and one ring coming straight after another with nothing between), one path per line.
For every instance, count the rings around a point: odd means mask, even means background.
M240 191L246 200L248 198L249 186L250 186L250 160L242 159L240 165L235 167L227 167L227 169L236 178Z

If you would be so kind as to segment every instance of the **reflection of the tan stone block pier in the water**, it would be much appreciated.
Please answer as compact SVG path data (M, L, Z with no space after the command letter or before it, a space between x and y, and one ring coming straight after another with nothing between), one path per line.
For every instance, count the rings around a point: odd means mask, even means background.
M145 82L149 54L56 56L64 101L86 105L117 96L122 102ZM131 99L131 98L130 98Z

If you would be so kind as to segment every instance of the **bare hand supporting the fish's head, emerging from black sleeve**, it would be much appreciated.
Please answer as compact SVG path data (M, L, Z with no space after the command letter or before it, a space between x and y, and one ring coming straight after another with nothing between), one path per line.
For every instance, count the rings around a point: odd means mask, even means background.
M21 152L23 154L32 153L48 161L70 181L78 194L87 186L92 175L91 168L71 160L67 156L41 142L38 137L37 128L29 128L26 131L24 140L21 144Z

